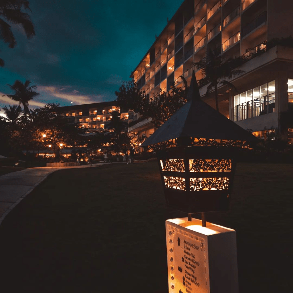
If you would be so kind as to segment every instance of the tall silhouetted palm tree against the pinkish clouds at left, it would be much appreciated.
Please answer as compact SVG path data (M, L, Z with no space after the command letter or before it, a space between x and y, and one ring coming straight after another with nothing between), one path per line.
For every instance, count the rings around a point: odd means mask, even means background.
M10 86L10 88L13 91L15 91L15 94L2 96L2 97L7 96L8 98L11 98L12 100L17 101L19 105L23 105L23 112L25 117L29 113L28 101L33 99L35 96L39 95L39 93L32 91L32 89L36 89L37 86L28 87L29 84L30 84L29 80L26 80L24 84L20 80L16 80L12 86L8 84L8 86Z

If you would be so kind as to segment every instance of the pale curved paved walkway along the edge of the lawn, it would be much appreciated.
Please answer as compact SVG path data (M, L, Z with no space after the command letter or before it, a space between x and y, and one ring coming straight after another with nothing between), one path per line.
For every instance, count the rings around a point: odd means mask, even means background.
M104 164L107 163L97 163L93 166ZM28 168L0 176L0 225L6 215L49 174L68 168L91 168L91 166Z

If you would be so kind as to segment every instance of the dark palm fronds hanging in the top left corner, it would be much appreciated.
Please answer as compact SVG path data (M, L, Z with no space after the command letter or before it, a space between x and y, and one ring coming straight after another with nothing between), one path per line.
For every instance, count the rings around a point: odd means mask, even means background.
M0 1L0 39L2 39L4 43L8 43L9 48L15 47L16 39L11 31L11 26L6 21L13 24L21 24L29 39L35 35L34 25L30 16L21 11L21 8L30 10L29 4L27 0ZM3 18L6 21L4 21ZM4 61L1 58L0 66L4 66Z

